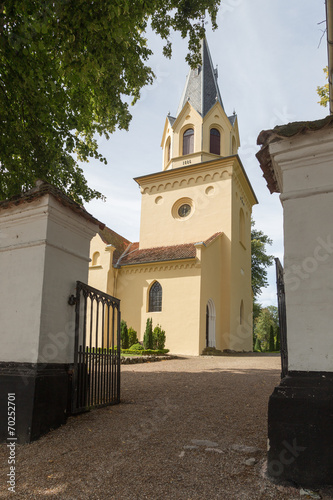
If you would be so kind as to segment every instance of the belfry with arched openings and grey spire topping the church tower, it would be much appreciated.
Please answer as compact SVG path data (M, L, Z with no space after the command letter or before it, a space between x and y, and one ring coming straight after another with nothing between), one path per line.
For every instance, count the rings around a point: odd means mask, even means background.
M165 121L161 147L163 170L237 154L237 116L227 116L206 38L201 41L201 64L187 75L176 117Z

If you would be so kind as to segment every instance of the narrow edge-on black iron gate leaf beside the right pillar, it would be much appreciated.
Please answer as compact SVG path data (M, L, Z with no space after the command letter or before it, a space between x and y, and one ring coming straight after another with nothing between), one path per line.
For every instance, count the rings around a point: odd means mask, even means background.
M278 258L275 259L275 266L280 326L281 378L283 378L288 373L286 298L284 293L283 267Z

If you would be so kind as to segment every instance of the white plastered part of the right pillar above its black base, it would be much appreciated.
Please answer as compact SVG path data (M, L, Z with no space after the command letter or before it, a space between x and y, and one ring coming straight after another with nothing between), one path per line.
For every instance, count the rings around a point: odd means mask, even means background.
M282 179L289 370L333 371L333 132L270 145Z

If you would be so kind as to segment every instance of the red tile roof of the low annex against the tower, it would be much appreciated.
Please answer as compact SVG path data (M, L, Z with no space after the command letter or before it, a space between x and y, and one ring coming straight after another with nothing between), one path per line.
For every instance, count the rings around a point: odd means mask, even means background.
M213 241L222 233L215 233L205 245ZM195 259L195 243L184 243L182 245L172 245L165 247L139 249L139 243L132 243L126 253L120 257L118 266L129 266L137 264L150 264L153 262L166 262L169 260Z

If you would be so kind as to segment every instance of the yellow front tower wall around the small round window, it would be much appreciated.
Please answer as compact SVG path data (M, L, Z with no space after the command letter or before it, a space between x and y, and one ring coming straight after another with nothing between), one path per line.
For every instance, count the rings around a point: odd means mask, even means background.
M140 248L198 242L220 231L231 237L230 176L235 158L138 178ZM177 215L181 200L193 205L186 218Z

